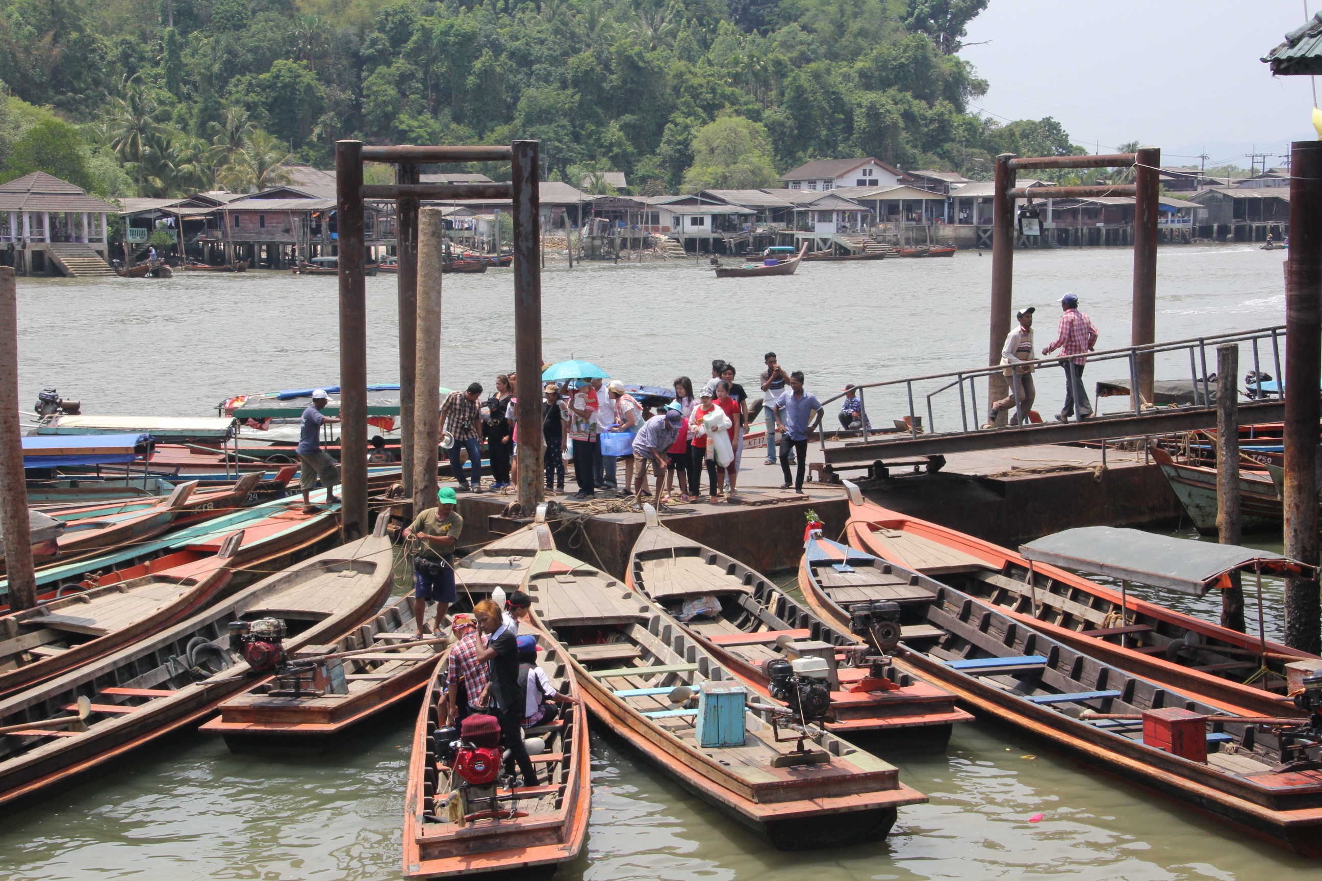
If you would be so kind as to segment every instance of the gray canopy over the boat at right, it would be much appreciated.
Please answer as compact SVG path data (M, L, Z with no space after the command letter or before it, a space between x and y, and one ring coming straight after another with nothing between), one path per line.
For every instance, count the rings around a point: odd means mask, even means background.
M1055 532L1019 546L1019 555L1034 563L1173 588L1195 596L1203 596L1211 588L1229 586L1229 573L1237 569L1253 571L1260 567L1266 573L1303 577L1311 577L1306 572L1313 569L1272 551L1175 539L1110 526Z

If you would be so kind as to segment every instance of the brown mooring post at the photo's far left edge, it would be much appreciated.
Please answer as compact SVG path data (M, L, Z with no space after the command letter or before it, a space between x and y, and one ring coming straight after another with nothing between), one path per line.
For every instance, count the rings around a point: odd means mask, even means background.
M0 267L0 532L9 577L9 612L37 605L28 483L19 427L19 295L13 267Z

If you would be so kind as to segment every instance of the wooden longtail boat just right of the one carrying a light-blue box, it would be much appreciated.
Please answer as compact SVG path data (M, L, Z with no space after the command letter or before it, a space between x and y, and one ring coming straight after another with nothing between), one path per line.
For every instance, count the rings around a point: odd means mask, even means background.
M873 679L847 629L842 633L821 621L771 579L738 560L672 532L650 505L644 509L646 526L633 544L625 582L662 606L686 634L767 700L775 699L763 663L785 658L788 651L828 659L832 716L825 728L834 734L879 736L892 746L944 750L953 724L973 719L956 708L954 695L925 682L908 678L910 684L902 686ZM683 621L683 604L701 597L717 600L720 612ZM787 645L780 645L783 637ZM837 654L838 649L846 652Z

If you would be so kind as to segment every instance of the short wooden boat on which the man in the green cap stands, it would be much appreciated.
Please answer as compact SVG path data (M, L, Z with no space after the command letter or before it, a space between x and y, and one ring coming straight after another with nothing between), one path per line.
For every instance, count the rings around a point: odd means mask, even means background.
M329 660L316 668L316 682L305 680L291 695L280 676L253 686L219 705L221 715L200 730L223 734L230 750L320 753L349 728L416 697L444 655L443 645L391 651L414 639L412 593L382 609L377 617L332 645L304 646L299 656L375 649L368 654ZM311 689L311 691L304 691Z

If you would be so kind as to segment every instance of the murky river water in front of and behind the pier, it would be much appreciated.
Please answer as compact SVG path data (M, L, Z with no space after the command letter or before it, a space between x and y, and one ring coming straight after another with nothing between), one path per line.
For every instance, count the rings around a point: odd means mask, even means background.
M1282 262L1281 252L1256 247L1163 247L1158 339L1284 324ZM1036 304L1054 318L1054 302L1073 291L1101 330L1099 347L1128 341L1130 251L1021 252L1015 265L1017 304ZM825 396L849 380L980 363L990 268L990 258L974 252L951 260L805 264L791 279L720 283L687 263L551 268L543 276L545 354L547 361L586 358L627 380L665 384L680 374L705 378L714 357L747 375L775 349ZM477 379L489 387L494 374L512 367L512 296L509 271L447 277L446 384ZM20 280L19 297L20 382L33 400L40 388L57 386L91 413L202 416L237 392L336 380L333 277ZM369 376L393 382L393 277L368 279L368 309ZM1039 339L1054 338L1054 321L1043 326ZM1054 394L1048 382L1039 383L1046 395ZM1270 635L1278 627L1280 586L1268 582L1264 593ZM1216 614L1207 600L1147 596ZM1251 619L1253 606L1251 598ZM200 734L153 746L7 818L0 877L398 878L411 730L408 713L399 713L324 757L279 761L231 756L219 738ZM943 756L884 757L899 765L904 782L931 796L928 804L902 808L882 844L780 853L621 744L596 736L587 847L558 877L1319 877L1315 864L994 725L957 726ZM1036 814L1042 820L1030 823Z

